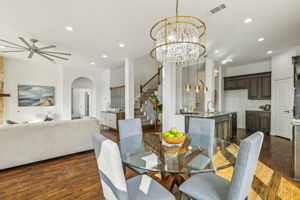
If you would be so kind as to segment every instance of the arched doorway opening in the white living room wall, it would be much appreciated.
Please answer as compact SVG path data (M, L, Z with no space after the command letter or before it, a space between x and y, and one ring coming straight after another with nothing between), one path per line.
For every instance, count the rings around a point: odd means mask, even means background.
M92 111L94 84L86 77L79 77L72 83L72 119L89 117Z

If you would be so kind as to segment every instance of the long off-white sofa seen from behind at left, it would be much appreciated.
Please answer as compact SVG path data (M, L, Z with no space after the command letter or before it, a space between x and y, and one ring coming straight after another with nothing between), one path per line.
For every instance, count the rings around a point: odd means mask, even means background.
M0 127L0 169L93 149L97 119L63 120Z

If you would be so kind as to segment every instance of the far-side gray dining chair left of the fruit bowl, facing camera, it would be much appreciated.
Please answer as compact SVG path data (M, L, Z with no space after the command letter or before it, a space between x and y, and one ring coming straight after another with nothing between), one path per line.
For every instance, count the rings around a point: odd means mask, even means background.
M143 142L143 129L142 129L142 122L140 118L136 118L136 119L124 119L124 120L119 120L118 121L119 124L119 137L120 137L120 141L124 140L128 137L132 137L132 136L141 136L141 144ZM136 148L135 146L128 146L126 148ZM124 147L122 148L122 153L125 153L125 149ZM129 166L130 167L130 166ZM145 174L147 173L147 170L144 169L139 169L136 167L130 167L131 169L133 169L134 171L136 171L139 174ZM126 168L124 168L124 171Z

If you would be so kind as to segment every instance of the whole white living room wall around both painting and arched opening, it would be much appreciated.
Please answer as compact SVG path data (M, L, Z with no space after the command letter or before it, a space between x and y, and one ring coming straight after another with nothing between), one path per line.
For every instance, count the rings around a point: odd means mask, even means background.
M31 61L5 58L4 90L11 94L4 100L4 120L17 122L42 118L46 111L56 113L55 119L71 119L71 88L79 77L93 82L91 116L100 118L110 102L110 70L75 68L54 64L37 64ZM18 107L18 85L42 85L55 87L55 105L44 107Z

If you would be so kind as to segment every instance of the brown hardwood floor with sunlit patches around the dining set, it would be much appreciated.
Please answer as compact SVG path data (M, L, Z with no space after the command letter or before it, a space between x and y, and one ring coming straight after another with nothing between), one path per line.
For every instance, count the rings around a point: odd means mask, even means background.
M118 141L118 134L102 134ZM248 134L238 130L235 142ZM249 199L300 200L300 183L292 176L292 143L266 136ZM127 178L135 176L127 170ZM230 179L233 167L218 175ZM159 180L159 174L150 173ZM178 191L174 191L178 195ZM104 199L93 151L0 171L0 200L99 200Z

